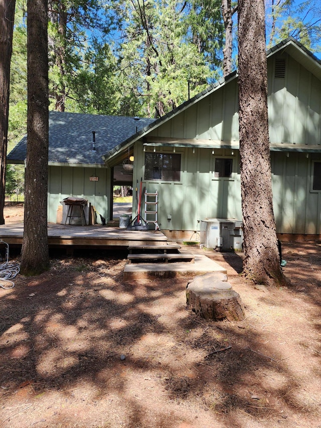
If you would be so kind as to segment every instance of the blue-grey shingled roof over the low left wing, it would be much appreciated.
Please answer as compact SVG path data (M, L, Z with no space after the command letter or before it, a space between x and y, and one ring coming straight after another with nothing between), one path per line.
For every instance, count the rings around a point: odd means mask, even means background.
M139 129L153 122L126 116L49 112L49 164L104 165L102 155ZM92 150L95 131L96 151ZM24 163L27 156L27 135L7 156L9 163Z

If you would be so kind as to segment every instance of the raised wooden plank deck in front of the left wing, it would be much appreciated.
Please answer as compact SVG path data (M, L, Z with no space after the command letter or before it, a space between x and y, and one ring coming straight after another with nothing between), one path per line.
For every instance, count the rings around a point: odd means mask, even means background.
M21 246L23 241L24 225L22 223L0 226L0 239L12 246ZM73 246L87 248L128 247L130 244L164 244L167 237L160 231L136 231L107 227L72 226L62 224L48 224L49 247Z

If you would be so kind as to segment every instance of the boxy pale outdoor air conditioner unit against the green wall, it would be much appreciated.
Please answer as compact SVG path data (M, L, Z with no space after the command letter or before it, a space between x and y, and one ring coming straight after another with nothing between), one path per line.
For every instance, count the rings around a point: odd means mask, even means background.
M235 218L201 220L200 244L223 251L242 250L242 222Z

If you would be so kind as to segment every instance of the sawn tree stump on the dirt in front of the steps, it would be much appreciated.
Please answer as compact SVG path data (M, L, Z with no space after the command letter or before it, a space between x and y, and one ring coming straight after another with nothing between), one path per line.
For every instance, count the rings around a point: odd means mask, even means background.
M206 320L242 321L244 307L227 276L207 273L196 276L186 287L187 305ZM225 278L224 278L225 276ZM223 279L223 280L222 280Z

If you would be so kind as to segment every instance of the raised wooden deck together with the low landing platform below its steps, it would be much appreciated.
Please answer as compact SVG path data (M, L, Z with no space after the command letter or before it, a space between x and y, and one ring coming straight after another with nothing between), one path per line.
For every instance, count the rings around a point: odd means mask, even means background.
M21 247L23 233L24 225L22 223L0 225L0 239L7 242L11 247ZM118 247L120 249L122 247L130 252L132 256L134 256L134 248L136 250L142 249L143 246L149 250L152 247L159 250L159 247L164 245L166 247L164 253L168 254L169 257L171 257L171 250L180 248L180 245L177 243L168 243L168 238L161 231L136 231L100 225L73 226L48 224L48 243L51 248L66 248L67 252L72 252L74 248L110 249ZM178 274L197 275L205 272L226 273L224 268L205 255L196 254L195 263L189 263L186 261L185 251L182 251L182 254L184 255L181 261L177 260L177 262L171 263L127 262L124 267L123 277L129 280L152 276L173 277ZM153 258L155 259L155 257ZM187 258L191 261L191 254ZM185 259L185 261L182 259Z

